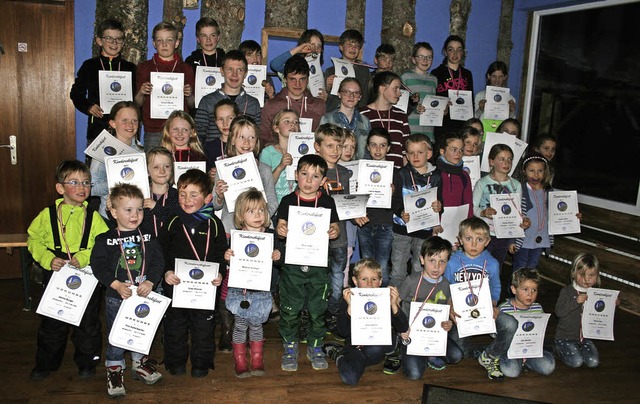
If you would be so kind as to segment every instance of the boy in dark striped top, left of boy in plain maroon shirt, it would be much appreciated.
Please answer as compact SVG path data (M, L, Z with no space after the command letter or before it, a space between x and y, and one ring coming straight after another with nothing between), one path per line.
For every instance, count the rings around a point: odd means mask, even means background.
M196 108L194 121L196 132L206 149L206 143L213 140L219 141L220 129L216 125L215 107L218 101L223 99L233 100L238 106L241 115L247 115L260 125L260 101L247 94L242 88L244 78L247 76L247 58L239 50L230 50L224 55L220 70L224 83L219 90L207 94L200 100Z

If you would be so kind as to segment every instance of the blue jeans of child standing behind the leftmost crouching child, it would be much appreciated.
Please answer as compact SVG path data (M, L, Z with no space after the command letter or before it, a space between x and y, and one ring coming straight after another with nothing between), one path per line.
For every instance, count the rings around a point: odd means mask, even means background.
M382 286L389 284L389 257L393 244L393 225L367 223L358 230L360 256L373 258L382 268Z

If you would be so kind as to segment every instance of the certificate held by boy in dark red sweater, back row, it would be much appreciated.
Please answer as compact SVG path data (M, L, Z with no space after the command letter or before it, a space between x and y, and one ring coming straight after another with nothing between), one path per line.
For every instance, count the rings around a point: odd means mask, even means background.
M184 111L184 73L151 72L151 119L167 119Z

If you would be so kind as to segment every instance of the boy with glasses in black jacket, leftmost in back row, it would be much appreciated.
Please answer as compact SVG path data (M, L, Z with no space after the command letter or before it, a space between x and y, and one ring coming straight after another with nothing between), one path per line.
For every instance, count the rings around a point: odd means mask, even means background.
M131 79L135 80L136 65L122 59L120 52L124 45L124 28L117 20L102 21L96 29L96 44L100 47L100 54L87 59L78 69L76 81L71 87L71 101L76 109L89 116L87 124L87 144L90 144L102 132L109 128L109 111L100 108L100 89L98 72L100 70L115 70L132 72ZM131 88L135 88L135 82ZM87 157L89 164L90 157Z

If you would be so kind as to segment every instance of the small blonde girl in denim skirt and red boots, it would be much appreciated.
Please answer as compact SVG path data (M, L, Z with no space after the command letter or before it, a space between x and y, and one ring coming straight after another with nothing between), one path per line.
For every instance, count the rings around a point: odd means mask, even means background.
M238 196L233 215L235 228L251 232L273 233L270 229L271 219L267 209L267 201L262 193L251 188ZM257 248L257 247L256 247ZM224 259L230 261L233 250L224 253ZM284 259L284 244L274 238L274 250L271 254L274 264L281 264ZM280 262L279 262L280 261ZM230 266L229 272L236 270ZM275 284L276 272L271 272L271 285ZM227 309L234 315L233 327L233 360L236 376L239 378L264 375L262 349L264 346L264 330L262 324L269 319L271 313L271 292L229 287L225 300ZM247 329L249 330L249 348L251 361L247 363Z

